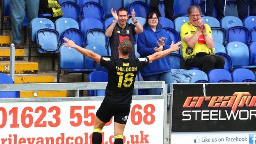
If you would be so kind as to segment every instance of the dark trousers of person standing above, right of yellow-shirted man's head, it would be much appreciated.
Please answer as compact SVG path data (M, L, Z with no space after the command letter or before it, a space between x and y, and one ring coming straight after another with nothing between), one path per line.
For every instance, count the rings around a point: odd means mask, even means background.
M224 7L225 7L226 0L206 0L206 11L205 16L212 16L213 14L213 7L216 6L217 11L217 18L220 20L224 17Z

